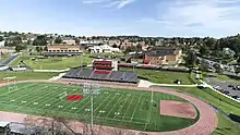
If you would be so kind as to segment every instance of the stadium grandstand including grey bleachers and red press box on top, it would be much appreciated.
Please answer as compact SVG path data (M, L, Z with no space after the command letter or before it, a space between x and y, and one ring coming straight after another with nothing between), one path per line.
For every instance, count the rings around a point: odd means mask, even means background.
M134 72L117 71L117 69L118 63L116 61L95 60L93 61L93 70L72 68L62 77L134 84L139 82L137 75Z

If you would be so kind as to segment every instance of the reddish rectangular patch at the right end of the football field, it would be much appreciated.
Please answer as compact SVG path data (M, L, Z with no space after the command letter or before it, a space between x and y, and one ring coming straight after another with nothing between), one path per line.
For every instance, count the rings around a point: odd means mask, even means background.
M195 119L196 110L190 102L160 101L160 114L178 118Z

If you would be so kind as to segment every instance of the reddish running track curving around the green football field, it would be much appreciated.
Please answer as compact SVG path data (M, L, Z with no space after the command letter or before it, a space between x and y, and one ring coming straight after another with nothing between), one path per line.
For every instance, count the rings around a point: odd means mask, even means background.
M49 82L49 81L21 81L21 82ZM20 82L19 82L20 83ZM84 82L80 82L80 81L56 81L56 82L51 82L51 83L61 83L61 84L83 84ZM8 84L0 84L0 86L4 86ZM134 87L134 86L124 86L124 85L111 85L111 84L100 84L101 86L106 86L106 87L115 87L115 88L129 88L129 89L134 89L134 90L151 90L149 88L141 88L141 87ZM182 130L178 130L178 131L172 131L172 132L145 132L147 135L211 135L213 133L213 131L215 130L215 127L217 127L218 121L217 121L217 115L215 113L215 111L213 110L213 108L203 102L200 99L193 98L191 96L184 95L184 94L180 94L173 90L169 90L167 88L152 88L154 91L160 91L160 93L166 93L166 94L170 94L170 95L175 95L178 97L181 97L185 100L189 100L190 102L192 102L200 111L200 119L199 121L185 128ZM8 118L9 115L9 118ZM7 113L7 112L0 112L0 118L4 118L5 120L11 120L14 121L11 118L15 116L15 122L23 122L24 118L26 116L26 114L17 114L17 113ZM20 119L22 116L22 119ZM76 124L81 124L81 122L74 122L74 124L72 126L74 126ZM81 127L81 126L79 126ZM104 126L105 132L101 133L103 135L111 135L112 133L107 132L109 128L109 126ZM107 130L108 128L108 130ZM119 128L118 128L119 130ZM139 131L132 131L132 130L123 130L122 131L127 131L127 132L131 132L130 134L133 134L132 132L134 132L135 134L140 134L141 132ZM81 132L82 130L74 130L76 132ZM128 135L128 134L125 134Z

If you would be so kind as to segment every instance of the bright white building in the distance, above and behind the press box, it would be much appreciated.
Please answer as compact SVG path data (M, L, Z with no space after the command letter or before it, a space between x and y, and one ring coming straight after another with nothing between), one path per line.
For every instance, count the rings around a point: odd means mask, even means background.
M108 45L101 45L101 46L93 46L88 48L88 51L91 53L103 53L103 52L121 52L119 48L112 48Z

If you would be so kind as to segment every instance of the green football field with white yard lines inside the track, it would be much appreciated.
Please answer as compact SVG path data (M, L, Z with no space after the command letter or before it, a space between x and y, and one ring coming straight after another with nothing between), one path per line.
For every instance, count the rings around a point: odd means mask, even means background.
M82 94L83 87L50 83L20 83L0 87L0 110L40 115L59 115L79 121L89 121L91 98ZM140 131L175 131L192 125L199 119L159 114L160 100L188 102L176 96L149 91L101 87L94 97L94 121ZM67 95L83 95L79 101L67 100Z

